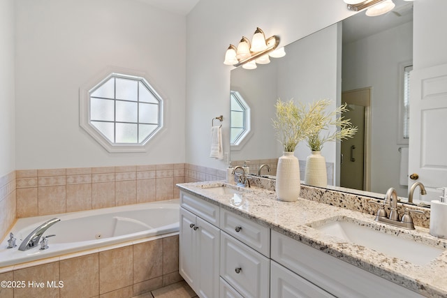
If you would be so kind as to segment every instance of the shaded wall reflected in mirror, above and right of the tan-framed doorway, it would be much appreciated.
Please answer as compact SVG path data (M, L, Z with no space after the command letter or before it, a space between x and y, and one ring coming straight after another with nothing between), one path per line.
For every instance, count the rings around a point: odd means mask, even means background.
M371 191L385 193L400 186L400 144L397 144L400 106L400 63L413 57L413 23L343 45L343 91L372 87Z

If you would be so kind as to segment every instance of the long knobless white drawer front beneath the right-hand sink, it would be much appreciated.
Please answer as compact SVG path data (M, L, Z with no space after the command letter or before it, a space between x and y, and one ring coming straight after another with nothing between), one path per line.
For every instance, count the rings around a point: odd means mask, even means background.
M337 297L422 297L276 231L272 260Z

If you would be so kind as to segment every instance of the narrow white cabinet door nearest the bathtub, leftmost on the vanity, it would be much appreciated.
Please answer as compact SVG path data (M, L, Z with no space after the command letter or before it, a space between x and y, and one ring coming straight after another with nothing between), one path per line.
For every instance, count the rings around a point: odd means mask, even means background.
M195 232L196 216L191 212L180 208L180 234L179 234L179 274L194 288L196 284L196 260L195 255Z

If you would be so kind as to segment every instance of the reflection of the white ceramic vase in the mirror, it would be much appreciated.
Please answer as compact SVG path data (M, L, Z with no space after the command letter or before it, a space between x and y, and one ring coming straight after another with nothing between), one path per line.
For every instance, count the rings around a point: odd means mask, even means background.
M321 151L312 151L312 155L307 156L305 184L319 187L328 186L326 161L321 155Z

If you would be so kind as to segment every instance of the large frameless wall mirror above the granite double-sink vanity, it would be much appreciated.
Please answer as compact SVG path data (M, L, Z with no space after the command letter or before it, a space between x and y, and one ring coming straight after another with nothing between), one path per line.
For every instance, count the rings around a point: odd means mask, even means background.
M378 198L394 187L406 198L404 79L412 65L413 5L403 0L395 3L386 15L367 17L360 12L286 45L286 57L271 59L270 64L231 70L231 91L241 94L251 109L251 135L244 146L232 148L231 161L251 161L250 172L257 173L259 163L271 159L274 165L281 156L271 121L278 98L303 103L327 98L332 108L347 102L351 111L360 114L356 125L364 126L353 151L361 167L348 170L356 174L346 179L342 145L326 143L322 154L328 163L328 184L369 191ZM300 162L309 154L304 142L295 150Z

